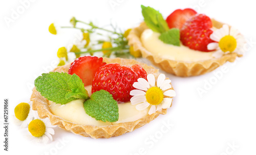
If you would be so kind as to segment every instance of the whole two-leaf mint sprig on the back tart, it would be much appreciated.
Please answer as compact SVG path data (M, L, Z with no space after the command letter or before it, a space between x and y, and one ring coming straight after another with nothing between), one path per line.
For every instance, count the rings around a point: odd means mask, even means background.
M159 39L166 44L180 46L179 29L170 29L162 14L151 8L141 5L142 15L148 28L154 32L161 33Z

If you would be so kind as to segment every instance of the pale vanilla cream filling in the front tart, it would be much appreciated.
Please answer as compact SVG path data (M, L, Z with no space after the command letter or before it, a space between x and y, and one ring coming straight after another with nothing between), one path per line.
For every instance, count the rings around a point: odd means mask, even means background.
M88 94L91 95L91 86L86 86L86 90ZM103 122L100 120L96 120L95 118L86 114L86 111L83 108L83 99L73 100L68 102L65 105L55 104L55 102L49 101L50 109L52 113L56 116L59 116L65 120L83 124L83 125L111 125L122 122L131 122L138 120L140 118L144 118L148 115L148 111L150 107L145 110L139 111L135 107L136 105L131 105L131 102L126 102L124 104L118 104L119 108L119 119L116 122Z

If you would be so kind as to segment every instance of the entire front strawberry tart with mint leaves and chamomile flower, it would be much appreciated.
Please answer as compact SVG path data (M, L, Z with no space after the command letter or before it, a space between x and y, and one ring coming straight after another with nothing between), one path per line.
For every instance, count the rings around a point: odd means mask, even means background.
M154 99L159 93L162 96ZM39 117L49 117L53 125L85 137L110 138L166 114L175 95L170 80L152 66L131 59L84 56L39 76L31 100Z

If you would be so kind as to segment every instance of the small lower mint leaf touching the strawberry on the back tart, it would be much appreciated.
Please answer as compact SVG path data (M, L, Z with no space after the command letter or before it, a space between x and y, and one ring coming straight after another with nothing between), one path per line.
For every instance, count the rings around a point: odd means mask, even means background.
M180 46L180 30L175 28L170 29L169 31L162 33L159 36L159 39L164 43Z

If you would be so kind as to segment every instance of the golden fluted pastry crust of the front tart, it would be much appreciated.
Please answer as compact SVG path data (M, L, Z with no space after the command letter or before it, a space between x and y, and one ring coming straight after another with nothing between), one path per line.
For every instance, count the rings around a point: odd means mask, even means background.
M127 65L127 66L140 64L145 69L147 74L152 73L156 77L160 74L158 72L158 69L152 66L147 66L146 64L137 62L132 59L103 58L103 61L106 63L120 63L121 65ZM68 72L69 67L70 67L70 64L67 64L65 66L57 67L53 71ZM92 138L110 138L113 136L120 136L127 132L132 132L136 128L139 128L149 123L150 121L154 120L160 114L166 114L167 112L166 109L162 109L161 111L157 111L151 115L148 115L136 121L118 123L114 125L105 125L105 126L81 125L78 123L64 120L61 117L54 115L50 110L49 101L45 97L41 96L40 93L35 88L33 89L33 93L31 95L30 100L33 101L33 105L32 105L33 110L37 110L37 113L40 118L48 117L53 125L58 125L60 128L70 131L74 134L78 134L84 137L92 137Z

